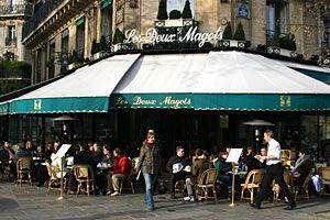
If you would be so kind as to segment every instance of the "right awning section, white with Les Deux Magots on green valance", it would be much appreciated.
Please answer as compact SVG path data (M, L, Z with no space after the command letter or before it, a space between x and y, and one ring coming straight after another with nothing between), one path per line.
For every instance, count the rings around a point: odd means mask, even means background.
M330 87L261 55L144 55L110 102L117 109L318 111L330 109Z

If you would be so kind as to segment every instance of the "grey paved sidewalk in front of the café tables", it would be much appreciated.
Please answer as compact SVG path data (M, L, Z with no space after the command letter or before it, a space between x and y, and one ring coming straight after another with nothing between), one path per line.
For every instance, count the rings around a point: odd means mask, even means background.
M169 194L155 196L155 211L147 211L143 201L143 194L123 194L118 197L79 195L67 196L58 201L59 191L51 190L45 194L44 187L37 188L23 184L0 183L0 219L157 219L157 220L194 220L194 219L330 219L330 197L310 200L297 200L297 209L283 210L285 204L265 201L261 210L249 207L249 204L238 202L229 207L228 199L186 202L169 199Z

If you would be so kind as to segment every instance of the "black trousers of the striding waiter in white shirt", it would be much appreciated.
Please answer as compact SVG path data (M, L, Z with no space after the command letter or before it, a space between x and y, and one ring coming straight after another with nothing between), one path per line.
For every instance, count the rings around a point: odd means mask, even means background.
M289 205L293 205L295 201L293 201L293 197L290 194L290 190L288 189L284 178L283 178L283 166L280 163L275 165L270 165L265 169L265 176L262 182L262 186L260 189L260 193L257 194L254 204L260 206L263 199L266 197L266 191L272 184L272 180L275 178L276 183L279 185L280 190L284 196L288 199Z

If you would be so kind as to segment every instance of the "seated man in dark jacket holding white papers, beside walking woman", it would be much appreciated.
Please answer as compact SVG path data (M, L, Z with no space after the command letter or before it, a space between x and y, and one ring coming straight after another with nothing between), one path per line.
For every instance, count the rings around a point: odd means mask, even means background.
M188 196L184 198L186 201L195 201L193 193L191 173L189 170L190 163L188 157L185 156L185 150L183 146L176 147L176 155L168 160L166 165L167 172L172 174L170 176L170 191L172 198L175 196L175 183L178 180L185 180L187 186Z

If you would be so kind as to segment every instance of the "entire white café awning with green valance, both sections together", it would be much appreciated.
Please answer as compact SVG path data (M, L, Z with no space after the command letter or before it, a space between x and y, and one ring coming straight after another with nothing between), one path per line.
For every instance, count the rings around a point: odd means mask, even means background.
M0 103L0 116L110 109L330 110L330 86L242 52L114 55Z

